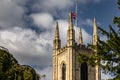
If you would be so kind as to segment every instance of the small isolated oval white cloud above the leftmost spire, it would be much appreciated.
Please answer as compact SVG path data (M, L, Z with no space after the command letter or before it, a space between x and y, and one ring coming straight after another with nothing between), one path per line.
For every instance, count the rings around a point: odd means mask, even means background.
M52 28L52 24L54 22L54 19L52 15L49 13L38 13L38 14L32 14L31 15L34 23L38 26L40 26L43 29L50 29Z

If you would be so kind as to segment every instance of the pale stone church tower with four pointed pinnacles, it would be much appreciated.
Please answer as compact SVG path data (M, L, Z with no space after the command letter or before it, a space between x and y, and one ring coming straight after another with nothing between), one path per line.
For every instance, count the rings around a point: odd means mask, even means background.
M94 19L93 45L96 45L97 37L97 24L96 19ZM81 29L78 44L75 42L75 30L72 13L70 13L67 44L62 48L58 22L56 24L53 42L53 80L101 80L99 67L92 67L86 62L79 63L77 58L78 53L90 55L94 51L83 44Z

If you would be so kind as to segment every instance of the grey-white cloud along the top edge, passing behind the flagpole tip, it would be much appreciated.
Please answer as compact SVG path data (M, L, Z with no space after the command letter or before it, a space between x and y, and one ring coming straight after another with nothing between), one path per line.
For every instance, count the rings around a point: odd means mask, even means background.
M87 4L87 3L98 3L101 0L78 0L80 4ZM39 0L35 4L32 5L33 9L38 10L52 10L53 9L65 9L70 8L75 4L76 1L74 0ZM53 11L54 12L54 11Z

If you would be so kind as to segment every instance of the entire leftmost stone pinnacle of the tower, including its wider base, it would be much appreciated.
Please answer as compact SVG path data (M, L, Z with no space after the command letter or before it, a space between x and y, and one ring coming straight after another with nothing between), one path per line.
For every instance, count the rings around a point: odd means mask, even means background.
M59 35L59 28L58 28L58 22L56 23L56 31L55 31L55 38L54 38L54 49L60 49L61 48L61 40Z

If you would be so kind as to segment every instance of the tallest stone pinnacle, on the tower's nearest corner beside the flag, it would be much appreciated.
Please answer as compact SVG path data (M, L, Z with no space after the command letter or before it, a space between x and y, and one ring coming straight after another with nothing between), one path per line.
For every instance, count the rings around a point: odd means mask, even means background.
M73 27L72 12L69 14L69 27L68 27L68 46L74 46L75 44L75 30Z

